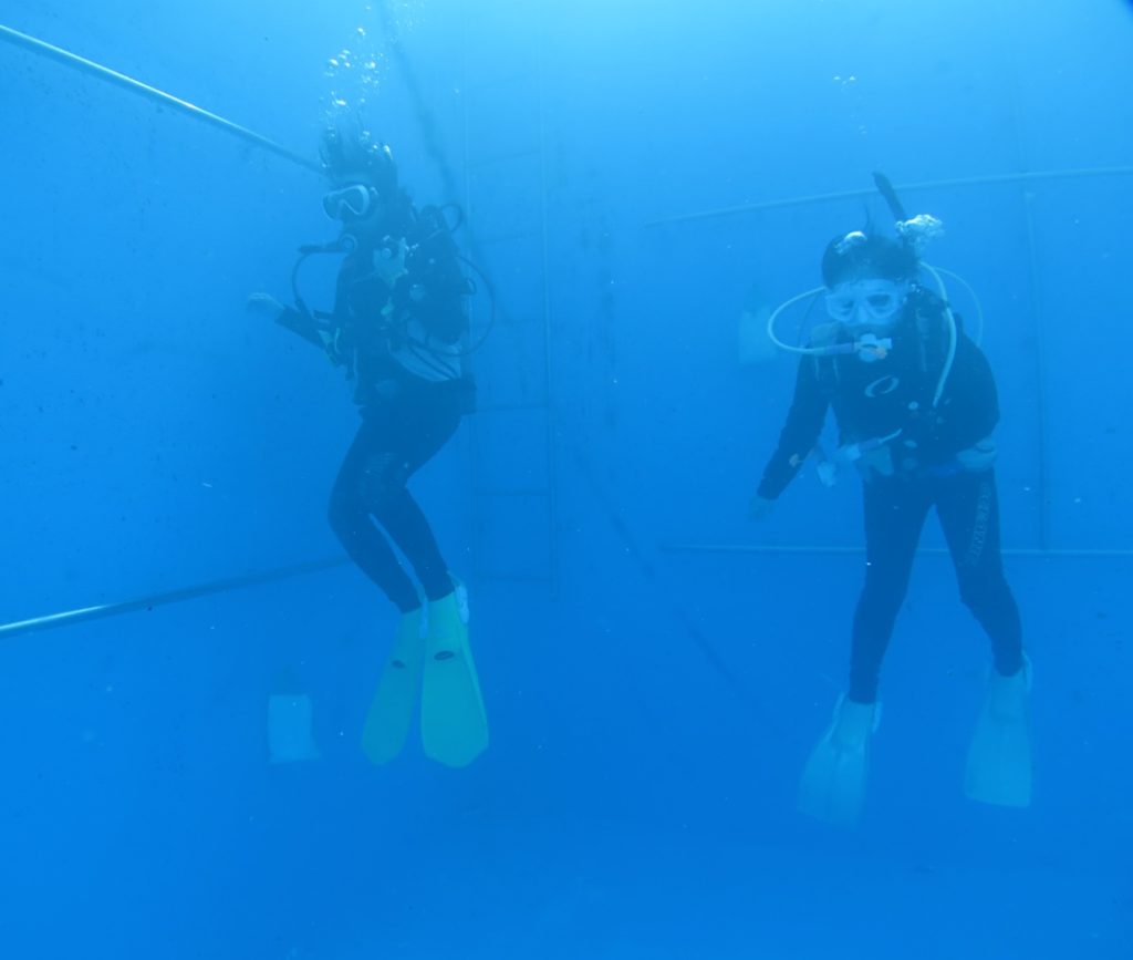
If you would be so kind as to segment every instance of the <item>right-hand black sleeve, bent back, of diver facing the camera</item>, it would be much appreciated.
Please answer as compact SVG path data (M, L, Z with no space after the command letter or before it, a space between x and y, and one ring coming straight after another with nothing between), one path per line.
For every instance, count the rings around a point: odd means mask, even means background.
M991 365L965 334L956 342L956 358L940 409L927 436L930 458L943 461L989 436L999 422L999 397Z

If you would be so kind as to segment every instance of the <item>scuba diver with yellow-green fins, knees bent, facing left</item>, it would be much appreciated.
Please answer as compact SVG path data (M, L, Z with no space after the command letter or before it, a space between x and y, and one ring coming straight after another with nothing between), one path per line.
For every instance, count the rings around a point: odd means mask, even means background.
M475 388L461 342L474 287L444 211L415 209L389 146L360 129L332 127L321 158L331 187L323 210L342 232L332 244L300 247L292 283L308 256L343 255L333 309L308 309L297 287L293 307L254 294L248 308L324 350L353 381L361 424L331 491L330 525L401 613L363 749L374 763L397 756L419 693L425 754L465 766L487 747L467 593L407 482L470 411ZM412 567L420 594L390 541Z

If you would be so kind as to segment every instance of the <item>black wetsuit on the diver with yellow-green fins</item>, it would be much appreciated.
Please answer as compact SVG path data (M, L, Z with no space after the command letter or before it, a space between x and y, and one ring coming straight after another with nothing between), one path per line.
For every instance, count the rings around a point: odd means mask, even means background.
M329 519L355 563L409 612L420 605L417 588L373 521L410 562L428 600L452 593L448 564L406 483L455 433L467 406L470 381L459 360L423 346L421 337L457 349L468 284L440 214L418 216L407 205L387 229L411 249L392 287L373 269L381 250L363 245L342 264L330 317L315 322L287 309L279 322L325 347L356 381L361 425L331 491ZM394 358L407 343L417 368L435 375L411 373Z

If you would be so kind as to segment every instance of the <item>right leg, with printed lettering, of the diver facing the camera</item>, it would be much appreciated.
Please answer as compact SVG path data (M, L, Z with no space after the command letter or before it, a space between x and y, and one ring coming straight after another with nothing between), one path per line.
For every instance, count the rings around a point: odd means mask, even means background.
M1023 630L1003 572L995 473L940 481L936 501L961 600L991 640L996 671L1012 677L1023 668Z

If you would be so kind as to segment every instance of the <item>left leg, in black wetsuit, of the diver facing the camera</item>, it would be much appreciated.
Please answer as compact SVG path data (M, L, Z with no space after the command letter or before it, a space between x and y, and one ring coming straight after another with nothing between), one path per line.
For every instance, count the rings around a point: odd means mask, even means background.
M853 618L849 698L870 704L931 499L922 484L895 478L871 479L863 492L866 585Z

